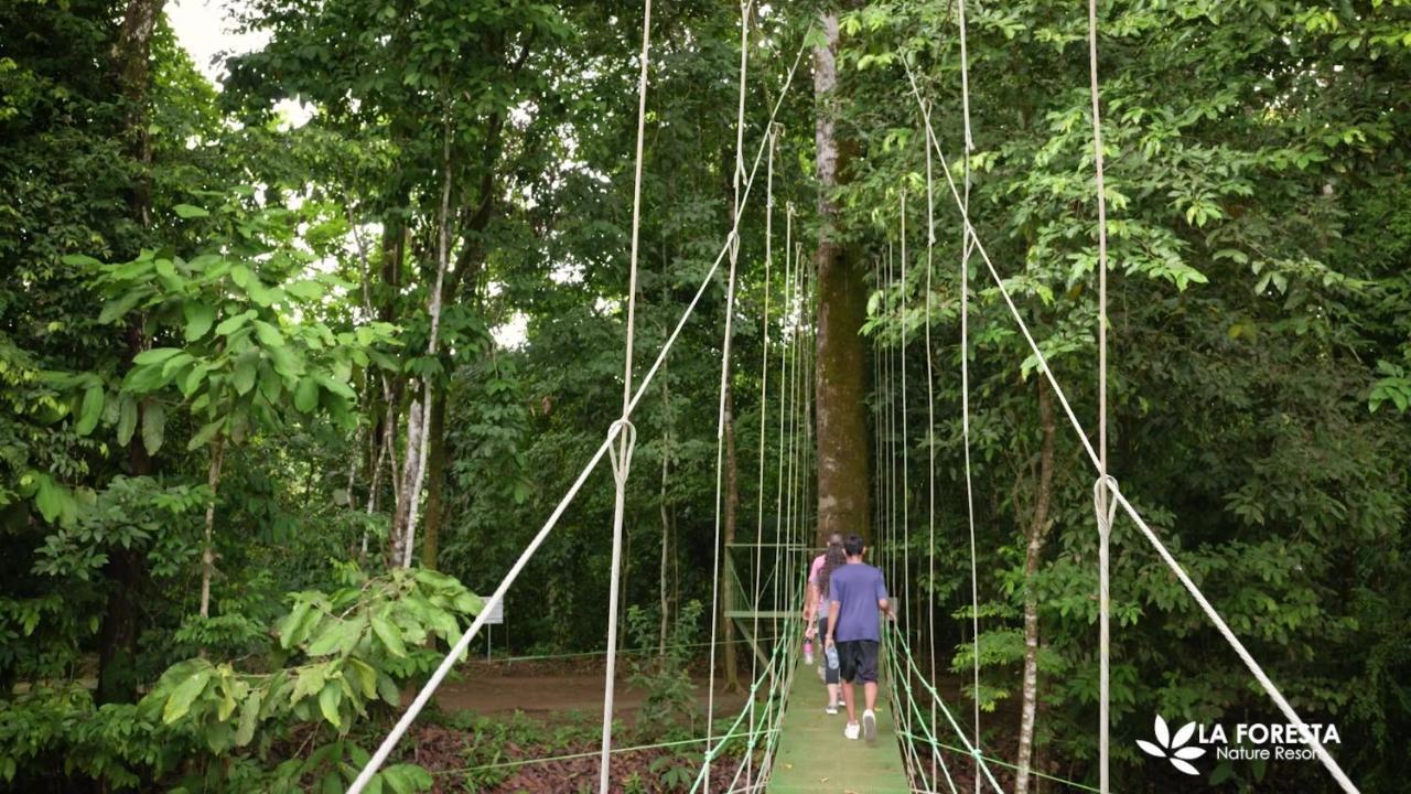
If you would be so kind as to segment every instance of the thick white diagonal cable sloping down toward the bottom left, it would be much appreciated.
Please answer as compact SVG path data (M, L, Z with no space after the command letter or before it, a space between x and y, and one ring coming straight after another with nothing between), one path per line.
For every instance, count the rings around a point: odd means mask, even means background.
M775 100L775 105L769 113L770 124L773 124L773 120L779 114L779 109L783 106L785 97L787 97L789 95L789 88L793 85L793 78L799 71L799 64L801 62L803 54L807 49L807 47L809 47L809 32L806 31L804 35L801 37L799 51L794 55L793 65L789 68L783 86L779 92L779 96ZM755 175L758 174L759 170L759 162L763 158L766 143L768 141L762 141L755 153L753 165L751 167L749 175L744 182L744 189L739 196L741 209L748 206L751 188L753 186ZM676 345L676 340L680 338L682 331L686 328L686 324L696 312L696 307L700 305L701 298L706 295L706 292L714 283L715 273L720 270L721 263L729 253L734 240L737 240L739 236L739 218L741 215L737 213L724 246L715 256L715 260L713 261L711 267L701 277L700 287L696 290L696 294L691 297L691 301L682 312L682 316L676 322L676 326L672 329L670 336L667 336L666 342L662 345L662 349L658 352L656 359L652 362L652 366L642 376L642 380L638 384L636 391L632 396L632 400L628 403L624 415L619 418L629 420L632 413L636 410L638 404L641 404L642 398L646 396L648 387L652 384L652 379L656 377L658 370L660 370L662 365L666 362L666 356L670 353L672 348ZM457 640L456 644L450 648L450 651L446 653L446 656L442 658L442 663L436 667L430 678L428 678L426 684L412 699L412 704L406 708L405 712L402 712L401 719L398 719L396 725L392 726L392 730L388 732L387 737L368 759L367 764L363 766L363 770L358 773L357 778L354 778L353 784L349 787L347 794L361 794L361 791L367 787L373 776L377 774L377 770L381 769L381 766L387 762L387 757L391 754L392 749L411 728L412 722L416 721L416 716L420 713L420 711L430 701L432 694L446 678L446 675L450 674L450 670L452 667L454 667L456 661L464 656L466 650L470 646L470 641L476 637L480 629L484 627L485 622L490 617L490 613L494 612L495 606L504 602L505 593L509 591L509 586L514 585L515 579L519 578L519 574L523 572L523 568L529 564L529 559L533 558L539 547L543 545L543 541L547 540L549 533L553 531L555 526L557 526L559 519L563 517L563 513L569 509L569 504L571 504L574 497L577 497L579 492L583 489L583 485L588 480L588 476L597 469L598 463L602 462L602 458L607 456L608 446L611 446L611 444L617 439L619 427L621 425L614 422L614 425L608 429L607 438L604 438L602 442L597 446L594 454L590 456L588 462L583 466L583 470L579 472L579 476L564 492L563 497L560 497L559 503L549 514L549 519L545 521L543 527L540 527L539 531L535 534L535 537L529 541L529 544L525 545L525 550L519 554L519 558L515 559L515 564L505 574L504 579L501 579L494 593L491 593L491 596L485 599L480 615L476 616L476 620L471 622L470 627L461 634L460 640Z

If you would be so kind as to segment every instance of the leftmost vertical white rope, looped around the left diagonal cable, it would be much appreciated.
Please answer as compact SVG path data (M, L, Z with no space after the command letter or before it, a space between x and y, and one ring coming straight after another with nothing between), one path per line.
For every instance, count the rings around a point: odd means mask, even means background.
M612 480L617 486L612 504L612 568L608 578L608 653L602 674L602 749L598 756L598 793L608 794L612 749L612 695L617 675L618 588L622 576L622 514L626 510L626 479L632 468L632 445L636 431L631 427L632 407L632 343L636 324L636 254L642 230L642 141L646 137L646 79L652 47L652 0L642 3L642 73L636 85L636 167L632 175L632 249L628 256L626 343L622 356L622 417L618 420L628 432L618 435L612 461Z

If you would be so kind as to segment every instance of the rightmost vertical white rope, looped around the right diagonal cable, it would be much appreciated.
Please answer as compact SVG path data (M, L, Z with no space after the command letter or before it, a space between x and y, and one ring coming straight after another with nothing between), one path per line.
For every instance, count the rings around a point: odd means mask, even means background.
M1088 0L1088 79L1092 93L1092 164L1098 192L1098 480L1108 478L1108 201L1102 184L1102 114L1098 95L1098 0ZM1108 489L1095 490L1098 516L1098 788L1109 791L1109 723L1112 671L1112 511Z

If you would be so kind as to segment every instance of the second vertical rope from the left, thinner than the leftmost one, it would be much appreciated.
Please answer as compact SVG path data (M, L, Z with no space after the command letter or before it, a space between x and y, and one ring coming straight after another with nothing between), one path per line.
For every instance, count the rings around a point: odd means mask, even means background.
M710 605L710 687L706 695L706 746L713 739L715 719L715 630L720 622L720 519L721 486L725 475L725 390L729 389L729 342L735 319L735 271L739 263L739 179L744 175L744 146L745 146L745 78L749 66L749 8L751 0L739 4L739 110L735 117L735 206L731 211L732 222L729 230L729 275L725 280L725 339L721 345L720 360L720 408L715 418L715 535L711 544L714 562L711 565L711 605ZM728 620L728 619L727 619ZM711 754L706 754L706 794L710 794Z

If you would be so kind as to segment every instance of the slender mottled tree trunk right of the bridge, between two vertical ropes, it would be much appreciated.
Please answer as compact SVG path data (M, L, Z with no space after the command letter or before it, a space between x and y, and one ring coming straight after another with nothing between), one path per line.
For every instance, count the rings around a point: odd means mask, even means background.
M1029 521L1029 544L1024 551L1024 684L1019 718L1019 757L1015 774L1015 794L1029 793L1030 766L1034 754L1034 718L1038 712L1038 596L1034 578L1043 559L1044 540L1051 526L1048 506L1054 483L1054 405L1044 379L1038 379L1038 421L1044 439L1038 452L1038 482L1034 511Z

